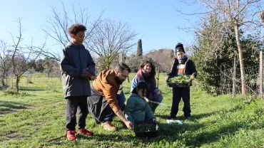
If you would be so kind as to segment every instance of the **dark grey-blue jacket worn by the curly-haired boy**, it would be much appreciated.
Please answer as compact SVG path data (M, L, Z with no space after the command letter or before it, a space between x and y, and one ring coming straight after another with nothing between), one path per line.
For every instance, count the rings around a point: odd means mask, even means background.
M83 69L95 74L95 63L83 45L68 42L61 56L61 80L65 97L90 96L90 82L85 78Z

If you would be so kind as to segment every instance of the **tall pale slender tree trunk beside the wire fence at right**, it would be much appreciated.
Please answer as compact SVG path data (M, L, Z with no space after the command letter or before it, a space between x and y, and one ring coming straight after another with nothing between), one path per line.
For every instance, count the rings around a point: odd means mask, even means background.
M235 19L234 27L235 27L235 39L238 45L238 57L239 57L240 75L241 75L241 92L242 95L245 95L245 69L244 69L242 46L240 44L239 25L237 19Z

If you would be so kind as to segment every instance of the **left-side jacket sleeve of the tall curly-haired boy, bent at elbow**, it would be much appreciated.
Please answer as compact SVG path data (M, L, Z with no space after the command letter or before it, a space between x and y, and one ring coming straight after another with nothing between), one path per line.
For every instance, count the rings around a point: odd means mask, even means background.
M84 70L80 68L73 68L70 64L70 60L68 58L68 53L66 52L66 48L63 50L61 55L61 72L70 75L71 77L85 77Z

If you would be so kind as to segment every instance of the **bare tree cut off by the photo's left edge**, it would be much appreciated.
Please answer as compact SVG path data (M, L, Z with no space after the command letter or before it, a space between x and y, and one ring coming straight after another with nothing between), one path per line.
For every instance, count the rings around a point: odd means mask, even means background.
M7 80L6 75L10 69L10 60L9 60L9 48L10 46L3 40L0 40L0 79L2 89L6 88Z

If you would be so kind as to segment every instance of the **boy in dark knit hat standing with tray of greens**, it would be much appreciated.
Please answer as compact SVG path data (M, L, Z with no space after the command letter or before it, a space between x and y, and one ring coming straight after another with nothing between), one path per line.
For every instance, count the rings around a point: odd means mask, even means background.
M193 60L190 60L186 56L186 52L183 48L182 43L178 43L175 48L175 53L177 58L175 58L171 72L166 76L166 80L176 75L191 75L191 79L197 77L196 66L193 63ZM173 88L173 102L171 106L171 115L168 119L173 119L178 113L178 105L183 98L183 112L184 117L187 120L190 120L191 117L191 105L190 105L190 87L188 88Z

